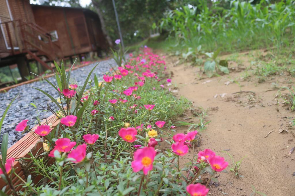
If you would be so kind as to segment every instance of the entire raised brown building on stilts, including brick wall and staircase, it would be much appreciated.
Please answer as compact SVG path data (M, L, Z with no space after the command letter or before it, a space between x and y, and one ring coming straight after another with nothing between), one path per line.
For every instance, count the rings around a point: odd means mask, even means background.
M0 86L7 69L19 78L29 74L29 62L53 70L61 58L108 48L99 16L83 8L31 5L30 0L0 0ZM6 69L5 73L3 70ZM13 75L13 74L12 74Z

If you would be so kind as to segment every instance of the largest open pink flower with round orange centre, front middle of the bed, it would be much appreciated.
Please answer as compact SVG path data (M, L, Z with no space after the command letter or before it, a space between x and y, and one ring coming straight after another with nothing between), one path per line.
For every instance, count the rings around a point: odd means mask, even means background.
M133 172L139 172L143 170L145 175L153 169L153 161L156 155L156 151L153 147L143 147L135 151L131 167Z

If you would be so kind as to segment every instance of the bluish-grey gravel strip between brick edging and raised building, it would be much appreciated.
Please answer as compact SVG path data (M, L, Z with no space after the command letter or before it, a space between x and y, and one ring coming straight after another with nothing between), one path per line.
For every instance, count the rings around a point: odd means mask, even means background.
M99 62L99 65L93 71L91 78L94 78L94 73L98 78L102 78L103 74L110 69L109 64L111 64L112 66L116 66L116 63L113 59ZM78 86L83 85L86 77L95 65L96 63L93 63L89 66L73 70L71 72L70 83L75 83ZM52 83L55 82L54 77L50 77L47 79ZM40 88L55 98L58 97L58 93L55 92L54 88L46 81L37 81L28 85ZM16 88L10 89L6 93L0 93L0 117L2 117L10 101L19 93L19 96L16 98L16 100L14 100L4 119L0 133L0 146L3 133L9 134L8 148L10 148L14 143L16 143L24 136L24 134L19 133L15 130L15 126L20 121L28 119L29 121L27 124L30 126L31 129L37 123L38 115L40 120L42 120L52 114L50 111L45 111L40 105L46 106L47 104L49 104L52 108L57 108L47 96L28 85L18 86ZM54 93L52 93L53 91ZM30 103L34 103L37 106L37 109L35 109Z

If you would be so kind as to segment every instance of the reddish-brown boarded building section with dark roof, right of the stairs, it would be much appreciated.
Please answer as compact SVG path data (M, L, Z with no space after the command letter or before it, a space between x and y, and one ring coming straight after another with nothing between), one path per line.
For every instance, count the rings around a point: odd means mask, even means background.
M57 39L63 56L108 48L99 16L84 8L32 5L35 22Z

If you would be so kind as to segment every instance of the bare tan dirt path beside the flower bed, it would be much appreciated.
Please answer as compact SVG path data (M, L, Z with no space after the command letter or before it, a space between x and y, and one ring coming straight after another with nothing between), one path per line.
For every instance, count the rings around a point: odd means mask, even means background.
M240 84L242 91L254 93L233 94L239 92L240 87L236 83L224 83L229 81L225 79L229 76L241 77L242 72L237 63L229 65L236 71L224 75L223 79L202 75L204 79L199 80L199 68L175 65L175 57L166 60L168 69L174 73L172 82L178 87L178 96L184 96L193 101L195 106L207 109L207 120L211 120L207 130L202 133L200 148L194 152L191 150L186 157L197 154L198 150L210 148L230 163L227 168L229 171L232 160L221 151L227 150L235 161L247 155L240 168L240 175L244 178L234 177L233 172L220 173L220 185L211 187L211 195L250 195L253 192L251 185L267 195L295 195L295 176L292 175L295 172L295 152L287 156L295 146L295 131L290 126L293 118L282 118L294 117L294 113L282 107L282 104L277 104L276 90L268 91L272 90L272 82L287 86L290 78L273 76L264 83L258 83L256 77L252 76L250 81L241 81ZM245 56L239 60L243 61L244 67L250 64L250 59L247 61ZM223 93L226 94L221 97ZM289 132L279 133L280 129ZM183 130L186 129L178 131ZM265 138L272 130L274 132Z

